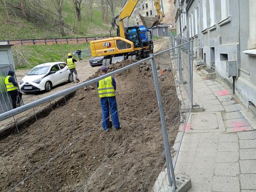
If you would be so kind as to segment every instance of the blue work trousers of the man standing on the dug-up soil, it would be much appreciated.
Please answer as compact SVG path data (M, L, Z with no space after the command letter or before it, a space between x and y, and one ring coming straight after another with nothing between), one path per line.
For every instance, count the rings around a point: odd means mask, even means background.
M108 129L109 125L109 106L111 112L111 119L115 128L120 128L116 97L103 97L101 98L101 109L102 109L102 126L104 130Z

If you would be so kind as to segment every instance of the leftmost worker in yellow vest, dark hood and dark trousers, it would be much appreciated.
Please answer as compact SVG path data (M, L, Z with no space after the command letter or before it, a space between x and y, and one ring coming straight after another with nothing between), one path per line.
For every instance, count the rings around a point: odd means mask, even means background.
M22 93L18 91L18 83L13 76L14 71L10 70L7 77L5 77L5 86L8 94L10 94L12 98L12 107L13 109L15 109L16 106L20 106L20 99L22 97Z

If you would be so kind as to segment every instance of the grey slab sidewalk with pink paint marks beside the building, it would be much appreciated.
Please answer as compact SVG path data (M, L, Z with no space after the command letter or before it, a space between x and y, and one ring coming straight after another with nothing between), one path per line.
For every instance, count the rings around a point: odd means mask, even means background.
M188 175L189 192L256 192L256 118L217 80L194 71L194 103L175 175Z

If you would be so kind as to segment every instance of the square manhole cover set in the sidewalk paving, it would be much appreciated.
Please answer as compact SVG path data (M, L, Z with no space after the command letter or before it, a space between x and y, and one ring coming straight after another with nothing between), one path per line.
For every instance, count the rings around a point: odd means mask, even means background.
M212 114L194 114L191 116L191 130L218 129L217 116Z

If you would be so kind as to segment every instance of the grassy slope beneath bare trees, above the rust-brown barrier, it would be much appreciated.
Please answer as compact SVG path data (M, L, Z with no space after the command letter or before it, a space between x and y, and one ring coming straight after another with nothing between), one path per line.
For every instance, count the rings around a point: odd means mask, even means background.
M15 5L19 5L15 0L13 0L12 5L14 3L16 3ZM10 19L7 18L5 8L3 6L0 7L0 18L2 21L0 23L0 40L62 37L59 30L58 18L54 14L39 13L35 10L30 13L27 8L25 9L27 20L25 20L19 8L12 7L12 9L7 9ZM72 1L69 0L63 4L62 13L66 32L66 35L63 37L108 35L109 33L107 31L111 29L110 14L106 19L108 22L108 24L106 24L102 19L102 12L99 9L93 8L92 15L88 15L84 9L85 8L81 8L82 18L79 22L75 17L76 15L74 15L74 5ZM54 12L54 9L50 11ZM84 16L82 15L82 11L84 11Z

